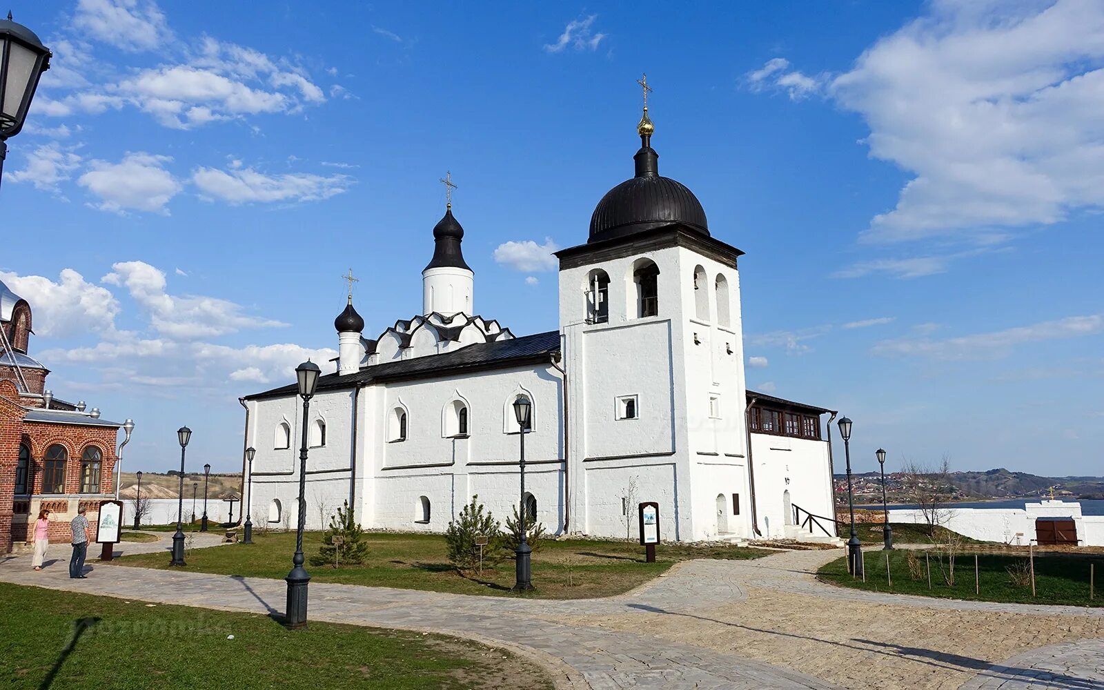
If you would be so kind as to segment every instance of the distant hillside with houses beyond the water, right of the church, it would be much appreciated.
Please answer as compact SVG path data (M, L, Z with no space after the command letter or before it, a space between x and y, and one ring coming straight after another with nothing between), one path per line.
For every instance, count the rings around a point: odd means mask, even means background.
M986 471L957 471L947 477L955 488L956 500L981 498L1044 498L1051 487L1055 498L1104 498L1104 477L1042 477L1030 473L1016 473L1002 467ZM885 475L885 492L890 501L906 501L903 475ZM881 501L882 485L879 473L852 476L856 497ZM836 475L837 491L847 490L847 475Z

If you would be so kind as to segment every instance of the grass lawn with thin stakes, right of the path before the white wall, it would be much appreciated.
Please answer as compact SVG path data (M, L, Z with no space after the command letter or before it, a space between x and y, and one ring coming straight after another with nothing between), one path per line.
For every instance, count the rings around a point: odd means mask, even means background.
M976 599L984 602L1012 602L1021 604L1070 604L1073 606L1102 606L1101 586L1104 585L1104 558L1074 554L1036 554L1036 596L1031 596L1031 583L1015 584L1009 567L1017 565L1027 567L1028 556L977 554L978 580L980 592L974 591L974 555L959 553L955 556L955 585L946 584L946 572L949 575L949 562L946 555L942 559L941 572L937 553L928 552L932 572L932 588L927 586L927 567L924 562L924 551L915 551L919 578L910 574L906 550L890 551L890 575L892 587L885 577L885 551L866 551L867 582L852 578L847 572L847 559L841 558L828 563L817 573L825 582L870 590L873 592L896 592L899 594L919 594L942 598ZM1090 564L1095 563L1095 598L1089 598Z

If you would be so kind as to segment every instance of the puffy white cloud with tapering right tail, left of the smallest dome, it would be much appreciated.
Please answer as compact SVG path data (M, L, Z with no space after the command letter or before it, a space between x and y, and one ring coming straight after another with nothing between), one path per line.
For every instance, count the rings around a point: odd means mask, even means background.
M177 340L194 340L236 332L248 328L285 326L279 321L245 316L242 307L217 297L166 291L164 273L145 262L120 262L102 278L109 285L126 287L149 315L152 328Z

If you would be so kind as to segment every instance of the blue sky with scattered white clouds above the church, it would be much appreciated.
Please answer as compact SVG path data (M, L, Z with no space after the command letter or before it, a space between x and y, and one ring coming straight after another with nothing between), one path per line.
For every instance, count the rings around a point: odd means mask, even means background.
M128 469L241 467L237 396L421 309L438 178L476 310L556 328L549 252L660 172L741 259L751 388L858 469L1102 474L1104 7L15 2L53 49L9 141L0 279ZM512 243L512 244L511 244ZM842 448L838 448L842 452Z

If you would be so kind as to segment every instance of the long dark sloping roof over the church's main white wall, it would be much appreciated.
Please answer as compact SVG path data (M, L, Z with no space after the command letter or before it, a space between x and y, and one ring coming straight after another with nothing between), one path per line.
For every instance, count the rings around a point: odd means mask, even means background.
M318 391L349 389L376 381L436 378L466 371L500 369L530 362L546 361L560 351L560 331L534 333L522 338L496 340L466 346L454 352L429 354L410 360L372 364L351 374L326 374L318 380ZM246 400L295 395L296 384L283 385L263 393L246 395Z

